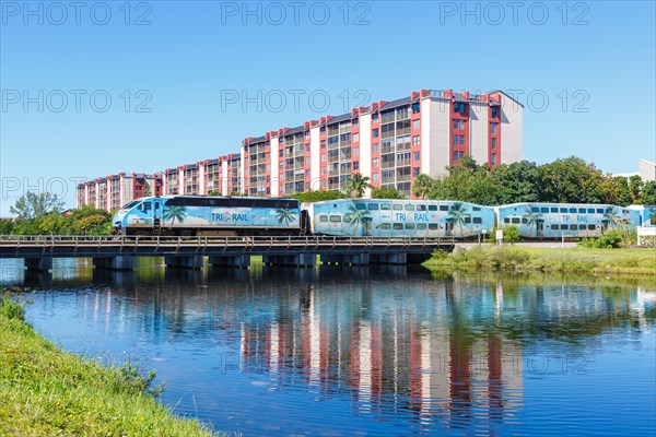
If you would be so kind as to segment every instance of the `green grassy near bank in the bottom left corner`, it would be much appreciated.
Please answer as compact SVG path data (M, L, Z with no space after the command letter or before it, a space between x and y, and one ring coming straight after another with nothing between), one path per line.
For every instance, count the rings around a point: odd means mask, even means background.
M0 291L0 435L211 436L175 416L133 367L106 368L62 352Z

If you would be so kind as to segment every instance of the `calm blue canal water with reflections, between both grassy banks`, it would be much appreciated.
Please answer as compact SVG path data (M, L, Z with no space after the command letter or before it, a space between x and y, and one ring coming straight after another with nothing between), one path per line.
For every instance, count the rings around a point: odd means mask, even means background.
M162 402L244 436L656 433L656 291L423 268L134 272L1 260L65 350L156 369ZM651 281L653 284L654 281ZM649 284L649 281L647 281Z

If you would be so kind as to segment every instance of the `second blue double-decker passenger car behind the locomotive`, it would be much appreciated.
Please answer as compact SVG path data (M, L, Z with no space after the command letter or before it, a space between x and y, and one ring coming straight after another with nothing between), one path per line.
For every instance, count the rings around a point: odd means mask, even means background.
M599 237L609 228L640 225L640 212L610 204L512 203L496 206L500 227L517 226L524 238Z

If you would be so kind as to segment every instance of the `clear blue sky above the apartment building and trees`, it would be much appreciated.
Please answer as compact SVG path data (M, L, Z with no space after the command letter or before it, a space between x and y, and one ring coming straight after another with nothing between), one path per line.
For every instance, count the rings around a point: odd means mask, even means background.
M653 1L2 0L0 14L2 216L28 189L74 206L77 179L237 152L420 88L514 93L526 160L656 160Z

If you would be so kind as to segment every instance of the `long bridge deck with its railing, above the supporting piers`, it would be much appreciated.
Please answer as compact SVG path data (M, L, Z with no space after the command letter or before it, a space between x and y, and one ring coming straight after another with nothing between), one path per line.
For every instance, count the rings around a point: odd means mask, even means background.
M453 238L421 237L125 237L0 236L0 258L431 253Z

